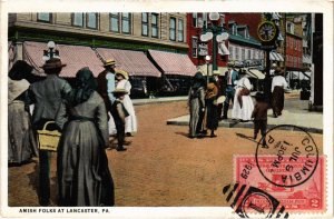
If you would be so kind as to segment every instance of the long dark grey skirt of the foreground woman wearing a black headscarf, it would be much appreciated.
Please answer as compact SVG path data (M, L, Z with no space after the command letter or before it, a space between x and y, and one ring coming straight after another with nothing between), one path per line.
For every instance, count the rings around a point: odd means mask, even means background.
M99 132L91 121L70 121L58 147L60 206L114 206L114 181Z

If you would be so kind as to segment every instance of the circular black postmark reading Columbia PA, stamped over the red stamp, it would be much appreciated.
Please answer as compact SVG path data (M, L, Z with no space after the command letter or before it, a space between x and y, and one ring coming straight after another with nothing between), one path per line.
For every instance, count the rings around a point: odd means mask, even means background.
M305 129L281 125L269 129L263 138L257 143L255 160L261 175L268 182L291 188L312 177L318 163L318 150Z

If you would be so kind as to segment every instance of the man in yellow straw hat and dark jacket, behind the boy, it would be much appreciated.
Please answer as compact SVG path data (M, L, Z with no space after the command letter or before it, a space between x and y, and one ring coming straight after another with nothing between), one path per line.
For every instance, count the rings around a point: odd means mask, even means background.
M116 87L115 67L116 61L114 59L107 59L104 64L105 70L97 77L98 92L105 101L107 111L110 111L111 104L115 101L115 97L112 94Z

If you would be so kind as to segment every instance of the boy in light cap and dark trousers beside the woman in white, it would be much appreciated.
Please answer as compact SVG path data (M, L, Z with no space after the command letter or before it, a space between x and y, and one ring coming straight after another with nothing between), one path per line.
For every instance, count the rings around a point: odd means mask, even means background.
M128 92L125 89L116 88L112 93L114 93L116 100L114 101L110 111L111 111L111 116L115 120L115 126L116 126L116 130L117 130L118 146L117 146L116 150L125 151L125 150L127 150L126 148L124 148L125 118L128 117L129 113L122 104L122 99L124 99L125 94Z

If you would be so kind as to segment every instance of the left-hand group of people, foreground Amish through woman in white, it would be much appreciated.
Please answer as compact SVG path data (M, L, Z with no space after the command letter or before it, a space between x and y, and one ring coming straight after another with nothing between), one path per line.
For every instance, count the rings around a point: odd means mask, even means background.
M117 130L118 151L126 150L126 133L137 131L128 73L115 71L115 60L107 60L97 80L85 67L70 86L59 77L65 66L60 59L49 59L41 67L47 77L38 81L30 80L32 67L24 61L17 61L10 70L9 163L22 165L39 157L39 202L49 206L51 152L38 148L37 132L51 122L48 129L61 132L57 149L58 205L114 206L114 180L105 151L109 148L108 120Z

